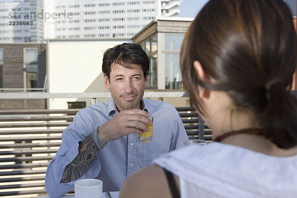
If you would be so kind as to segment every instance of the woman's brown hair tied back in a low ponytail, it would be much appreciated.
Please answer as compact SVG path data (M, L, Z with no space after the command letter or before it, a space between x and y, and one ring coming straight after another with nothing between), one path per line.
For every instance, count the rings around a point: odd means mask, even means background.
M199 80L195 60L215 83ZM283 0L209 0L181 51L183 83L200 113L198 86L225 91L255 112L263 135L280 148L297 145L297 101L289 91L296 68L297 37Z

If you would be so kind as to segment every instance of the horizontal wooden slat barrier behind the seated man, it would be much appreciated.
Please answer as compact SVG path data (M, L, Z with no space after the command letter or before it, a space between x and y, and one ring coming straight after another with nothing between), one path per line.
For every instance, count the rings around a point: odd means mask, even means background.
M197 112L176 109L190 139L211 140L211 131ZM79 110L0 110L0 196L47 196L47 166L61 144L62 131ZM201 130L204 133L199 134Z

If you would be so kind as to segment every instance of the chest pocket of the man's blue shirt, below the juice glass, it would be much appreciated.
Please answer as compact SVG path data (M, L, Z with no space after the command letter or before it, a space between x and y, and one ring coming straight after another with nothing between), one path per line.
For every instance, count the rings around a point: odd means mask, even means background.
M169 152L170 144L146 143L144 149L145 166L151 164L152 160Z

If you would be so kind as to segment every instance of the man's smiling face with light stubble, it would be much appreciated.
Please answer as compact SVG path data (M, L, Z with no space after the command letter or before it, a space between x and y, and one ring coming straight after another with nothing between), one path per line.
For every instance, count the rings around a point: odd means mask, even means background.
M132 68L112 65L109 80L104 74L104 85L110 90L119 111L140 108L140 101L148 84L148 77L144 77L142 67L136 64L130 66Z

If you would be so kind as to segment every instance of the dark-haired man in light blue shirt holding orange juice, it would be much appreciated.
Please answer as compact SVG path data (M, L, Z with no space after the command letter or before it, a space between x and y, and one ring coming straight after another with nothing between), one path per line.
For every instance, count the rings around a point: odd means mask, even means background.
M165 102L143 99L149 58L136 44L117 45L103 55L104 85L111 98L80 110L63 131L62 145L49 163L46 189L61 197L79 179L98 178L103 192L119 191L134 171L188 139L176 109ZM138 141L154 116L153 138Z

